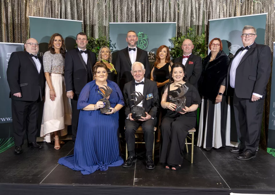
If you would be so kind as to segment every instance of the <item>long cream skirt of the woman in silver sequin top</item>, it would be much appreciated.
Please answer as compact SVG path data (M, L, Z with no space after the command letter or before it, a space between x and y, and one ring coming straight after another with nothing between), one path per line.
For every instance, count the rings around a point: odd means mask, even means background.
M50 78L56 98L51 101L50 88L46 82L40 131L40 137L43 137L46 142L51 142L51 134L55 131L60 130L60 136L67 135L67 126L72 123L72 106L70 99L66 96L64 75L51 73Z

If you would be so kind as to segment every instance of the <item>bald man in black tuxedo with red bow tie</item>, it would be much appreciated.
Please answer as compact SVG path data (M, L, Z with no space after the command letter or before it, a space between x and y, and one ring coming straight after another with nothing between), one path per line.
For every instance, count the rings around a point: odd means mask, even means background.
M180 62L184 65L188 80L187 82L198 89L198 81L203 70L202 59L201 57L192 54L194 45L190 39L185 39L182 42L181 48L183 50L183 55L177 57L174 60L174 63Z

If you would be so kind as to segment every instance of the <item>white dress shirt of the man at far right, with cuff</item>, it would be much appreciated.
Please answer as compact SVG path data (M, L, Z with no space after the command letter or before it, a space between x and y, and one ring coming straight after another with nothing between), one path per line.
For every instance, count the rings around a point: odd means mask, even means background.
M252 43L253 44L253 43ZM252 45L251 44L251 45ZM250 46L251 46L250 45ZM250 47L249 46L249 47ZM240 63L240 61L241 61L241 59L243 58L243 56L245 55L245 53L247 52L248 50L247 49L245 49L245 50L243 50L243 51L240 51L238 54L237 54L237 56L233 59L233 61L232 61L232 64L231 64L231 68L230 68L230 72L229 72L229 75L230 75L230 81L229 81L229 83L230 83L230 86L232 87L232 88L235 88L235 78L236 78L236 70L237 70L237 67L238 67L238 65L239 65L239 63ZM257 93L253 93L253 95L255 95L255 96L258 96L258 97L263 97L262 95L260 95L260 94L257 94Z

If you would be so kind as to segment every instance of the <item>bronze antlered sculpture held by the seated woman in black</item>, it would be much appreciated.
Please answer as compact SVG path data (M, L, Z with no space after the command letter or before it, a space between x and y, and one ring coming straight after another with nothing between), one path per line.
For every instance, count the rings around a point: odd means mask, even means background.
M175 90L174 93L177 93L178 96L173 98L171 95L169 95L169 100L171 103L176 104L177 107L175 109L176 112L184 112L182 109L185 109L185 105L186 105L186 97L184 96L187 91L188 91L188 87L184 84L180 83L179 85L176 85L175 87L178 87L180 89L180 93Z

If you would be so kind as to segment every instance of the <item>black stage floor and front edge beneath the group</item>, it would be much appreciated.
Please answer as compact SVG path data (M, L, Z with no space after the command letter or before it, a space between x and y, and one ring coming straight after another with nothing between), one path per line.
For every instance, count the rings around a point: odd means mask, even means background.
M60 150L41 144L40 150L24 144L20 155L13 154L14 147L0 153L0 194L275 194L275 158L261 149L256 158L241 161L229 152L230 147L209 152L194 147L194 163L190 164L191 154L185 153L183 168L172 171L158 163L159 144L155 169L146 169L145 146L139 144L138 160L132 167L82 175L57 163L60 157L73 154L72 141ZM125 159L125 143L121 145Z

